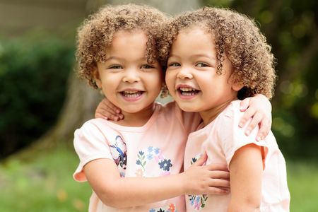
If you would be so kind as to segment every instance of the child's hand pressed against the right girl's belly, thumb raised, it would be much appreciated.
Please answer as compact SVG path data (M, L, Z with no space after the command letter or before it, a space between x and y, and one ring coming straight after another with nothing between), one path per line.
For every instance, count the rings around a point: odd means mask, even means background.
M228 194L230 173L227 165L206 162L206 154L182 173L185 194Z

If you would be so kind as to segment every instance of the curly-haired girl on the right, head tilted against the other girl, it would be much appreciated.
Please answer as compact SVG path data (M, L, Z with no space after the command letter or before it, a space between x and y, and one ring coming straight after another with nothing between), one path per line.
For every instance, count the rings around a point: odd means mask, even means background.
M163 32L167 88L182 110L203 119L189 135L184 170L202 153L206 164L230 170L230 194L188 195L187 211L289 211L285 160L273 134L257 142L257 129L246 136L237 126L237 98L271 98L276 79L271 47L257 25L235 11L203 8L173 18Z

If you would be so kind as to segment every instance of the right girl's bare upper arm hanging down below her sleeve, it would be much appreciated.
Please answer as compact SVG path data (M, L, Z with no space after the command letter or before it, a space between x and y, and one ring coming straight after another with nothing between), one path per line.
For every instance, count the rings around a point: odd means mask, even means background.
M261 149L243 146L230 162L231 201L228 211L259 211L261 204Z

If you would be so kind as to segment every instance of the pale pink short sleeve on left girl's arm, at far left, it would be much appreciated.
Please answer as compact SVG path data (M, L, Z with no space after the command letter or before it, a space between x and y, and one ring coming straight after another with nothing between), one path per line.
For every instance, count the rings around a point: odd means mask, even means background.
M73 178L78 182L87 180L83 172L86 163L100 158L112 159L104 134L93 122L88 121L80 129L76 129L73 144L80 159L80 163L73 173Z

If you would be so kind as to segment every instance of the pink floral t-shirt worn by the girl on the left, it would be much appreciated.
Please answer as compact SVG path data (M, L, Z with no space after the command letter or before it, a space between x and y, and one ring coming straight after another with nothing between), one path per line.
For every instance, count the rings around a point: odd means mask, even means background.
M177 174L182 169L187 136L199 121L198 114L182 112L175 102L165 106L156 103L155 112L141 127L90 119L75 131L74 146L80 163L73 177L86 181L83 166L98 158L114 160L122 177ZM160 211L160 208L161 211L185 211L184 196L119 210L102 204L93 192L89 211Z

